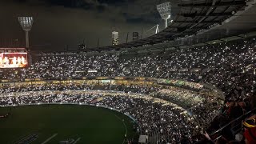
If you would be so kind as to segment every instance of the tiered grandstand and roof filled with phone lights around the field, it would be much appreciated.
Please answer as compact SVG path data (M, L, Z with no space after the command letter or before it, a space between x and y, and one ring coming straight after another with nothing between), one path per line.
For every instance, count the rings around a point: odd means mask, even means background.
M1 71L1 105L108 106L134 117L139 133L151 143L198 142L202 130L210 133L205 143L222 137L232 141L256 110L256 34L251 25L256 21L244 17L255 14L254 3L181 1L174 22L149 38L118 44L114 31L113 46L36 54L38 60L27 69ZM87 90L109 91L82 95ZM26 91L38 94L31 97Z

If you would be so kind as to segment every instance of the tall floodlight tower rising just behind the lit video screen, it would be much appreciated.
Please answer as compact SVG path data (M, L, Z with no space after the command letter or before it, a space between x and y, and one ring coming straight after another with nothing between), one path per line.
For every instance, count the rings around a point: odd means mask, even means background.
M29 31L31 30L34 22L33 17L18 17L18 22L26 32L26 48L28 49L30 47Z

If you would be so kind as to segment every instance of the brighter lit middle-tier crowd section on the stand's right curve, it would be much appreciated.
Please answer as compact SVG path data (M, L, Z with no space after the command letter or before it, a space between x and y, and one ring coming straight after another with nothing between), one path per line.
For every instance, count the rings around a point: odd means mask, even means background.
M200 94L193 90L186 90L180 87L168 86L168 89L158 90L152 94L156 98L161 98L169 102L182 106L202 127L207 127L217 116L223 101L217 97Z

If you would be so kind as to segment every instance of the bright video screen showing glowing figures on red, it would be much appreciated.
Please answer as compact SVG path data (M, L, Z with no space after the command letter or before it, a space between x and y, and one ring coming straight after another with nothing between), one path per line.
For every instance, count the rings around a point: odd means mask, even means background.
M0 68L18 68L27 66L27 53L1 53Z

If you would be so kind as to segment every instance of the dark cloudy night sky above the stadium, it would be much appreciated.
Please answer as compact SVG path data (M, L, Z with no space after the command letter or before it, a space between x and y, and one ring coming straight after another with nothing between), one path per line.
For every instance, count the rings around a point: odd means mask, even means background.
M161 0L160 2L166 2ZM0 47L6 43L25 43L25 33L17 17L34 17L30 46L34 49L75 49L78 43L96 47L111 44L111 31L119 32L120 43L132 40L132 32L143 37L152 26L164 23L156 10L159 0L1 0ZM173 1L174 2L174 1ZM16 39L16 41L15 41ZM17 42L17 43L18 43ZM3 44L4 43L4 44ZM2 45L2 46L1 46ZM13 44L14 45L14 44ZM23 45L25 46L25 45Z

